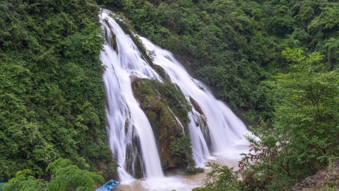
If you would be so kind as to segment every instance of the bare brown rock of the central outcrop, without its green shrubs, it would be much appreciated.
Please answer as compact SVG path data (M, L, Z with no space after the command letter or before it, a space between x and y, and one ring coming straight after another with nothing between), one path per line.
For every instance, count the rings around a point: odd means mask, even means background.
M191 157L186 156L189 152L173 154L170 145L181 136L182 127L180 127L179 122L183 126L188 123L182 116L177 116L178 122L174 113L185 111L185 115L187 115L186 109L177 108L183 107L182 104L169 103L170 100L167 96L162 95L155 86L162 84L153 84L152 80L141 79L133 75L130 78L134 97L139 101L140 107L145 112L153 129L163 169L185 168L188 165L186 158ZM173 89L175 90L175 88Z

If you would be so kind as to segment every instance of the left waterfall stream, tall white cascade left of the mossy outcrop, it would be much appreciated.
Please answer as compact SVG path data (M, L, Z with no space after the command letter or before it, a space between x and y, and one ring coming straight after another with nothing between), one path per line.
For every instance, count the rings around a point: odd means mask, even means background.
M125 181L140 175L163 177L152 128L133 97L129 76L161 78L141 59L136 45L109 17L108 10L102 13L102 24L107 39L112 38L112 32L116 35L118 50L118 53L114 51L112 41L108 40L101 61L107 67L103 78L107 94L108 134L114 156L122 167L118 169L119 178ZM135 172L135 169L141 169L141 172Z

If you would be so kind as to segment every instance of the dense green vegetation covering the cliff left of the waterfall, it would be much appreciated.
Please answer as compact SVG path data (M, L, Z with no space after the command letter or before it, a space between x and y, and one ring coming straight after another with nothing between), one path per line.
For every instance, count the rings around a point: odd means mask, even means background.
M112 178L92 0L0 1L0 180L63 157ZM46 180L49 179L49 177Z

